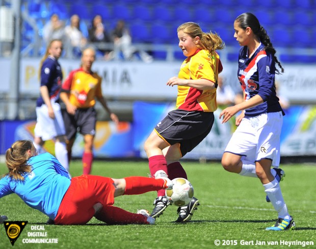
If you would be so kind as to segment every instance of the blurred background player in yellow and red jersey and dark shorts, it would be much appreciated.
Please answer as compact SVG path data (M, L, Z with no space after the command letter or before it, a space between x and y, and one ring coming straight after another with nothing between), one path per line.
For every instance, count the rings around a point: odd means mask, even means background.
M111 112L102 96L101 77L91 70L94 61L94 48L86 48L82 54L81 67L69 73L69 76L63 83L60 95L66 105L63 117L68 139L67 151L69 161L77 129L84 136L85 147L82 157L84 175L90 174L93 162L93 141L96 125L95 98L101 103L104 110L109 113L112 121L116 123L119 121L117 115Z

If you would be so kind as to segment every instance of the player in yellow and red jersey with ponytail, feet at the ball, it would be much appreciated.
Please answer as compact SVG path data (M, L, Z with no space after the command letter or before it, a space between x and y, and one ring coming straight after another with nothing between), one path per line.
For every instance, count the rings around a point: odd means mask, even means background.
M179 47L186 60L178 77L168 80L168 86L177 86L176 110L157 124L145 141L152 177L187 178L179 162L192 151L210 132L217 109L216 88L222 63L217 49L223 49L222 39L212 32L204 33L197 23L186 22L177 28ZM158 192L154 200L152 217L159 217L170 203L165 191ZM176 222L189 221L197 209L199 200L193 197L184 207L178 208Z

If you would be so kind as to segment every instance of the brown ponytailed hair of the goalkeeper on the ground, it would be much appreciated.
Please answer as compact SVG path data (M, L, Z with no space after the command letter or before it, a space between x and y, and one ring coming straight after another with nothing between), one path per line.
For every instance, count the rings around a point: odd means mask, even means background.
M19 181L24 180L22 175L32 170L32 166L27 163L32 157L28 153L29 150L31 150L31 155L34 155L36 152L36 148L31 140L18 140L8 148L6 152L6 164L9 173L5 176Z

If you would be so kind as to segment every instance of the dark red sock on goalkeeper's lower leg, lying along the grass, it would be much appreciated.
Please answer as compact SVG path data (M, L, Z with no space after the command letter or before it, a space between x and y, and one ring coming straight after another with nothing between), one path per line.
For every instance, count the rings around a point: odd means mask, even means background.
M148 224L147 217L142 214L127 212L114 206L104 206L94 217L108 225Z

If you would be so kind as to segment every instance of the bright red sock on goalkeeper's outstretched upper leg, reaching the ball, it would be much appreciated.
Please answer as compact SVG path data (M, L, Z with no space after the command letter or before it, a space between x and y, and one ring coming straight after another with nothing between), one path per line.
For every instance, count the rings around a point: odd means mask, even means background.
M148 177L126 177L125 195L157 191L164 187L165 180ZM165 190L164 190L165 191Z

